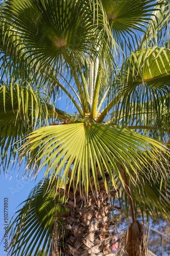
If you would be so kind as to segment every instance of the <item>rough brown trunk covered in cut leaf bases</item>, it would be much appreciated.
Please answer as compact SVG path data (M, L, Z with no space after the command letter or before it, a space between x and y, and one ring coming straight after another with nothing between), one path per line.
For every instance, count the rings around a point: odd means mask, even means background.
M111 245L115 242L115 223L109 214L118 207L108 202L116 191L103 188L100 191L93 190L93 193L91 191L88 196L85 193L80 196L79 189L76 195L71 189L69 192L68 189L58 191L69 198L67 203L62 204L69 211L57 215L66 222L63 237L60 238L61 253L68 256L114 255Z

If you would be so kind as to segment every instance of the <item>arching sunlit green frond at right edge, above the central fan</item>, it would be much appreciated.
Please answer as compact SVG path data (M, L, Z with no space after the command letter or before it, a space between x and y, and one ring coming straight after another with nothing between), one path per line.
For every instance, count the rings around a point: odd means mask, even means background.
M149 118L159 118L168 112L169 78L168 49L154 47L131 53L120 72L123 97L117 104L115 118L120 120L125 116L122 125L140 126L147 125ZM136 113L141 114L139 118Z

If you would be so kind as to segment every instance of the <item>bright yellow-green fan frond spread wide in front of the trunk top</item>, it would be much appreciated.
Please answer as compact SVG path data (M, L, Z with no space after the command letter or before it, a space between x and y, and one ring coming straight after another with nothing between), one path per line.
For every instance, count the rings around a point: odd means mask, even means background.
M125 127L88 123L83 120L74 124L46 126L38 129L20 148L20 156L30 154L33 159L31 151L36 148L37 153L34 157L39 164L38 170L47 166L46 175L48 172L52 174L55 172L55 175L62 176L62 180L66 181L69 168L72 167L70 182L74 180L76 174L77 185L79 182L83 184L87 193L90 187L90 172L93 174L95 187L98 187L96 165L99 166L107 189L105 172L109 174L114 186L115 175L124 184L117 162L136 182L138 171L143 168L141 166L149 168L152 162L159 169L160 151L168 155L163 143L152 138L137 134ZM162 156L162 161L163 159ZM104 169L102 163L105 165ZM32 160L30 163L28 161L28 168L30 168L29 164L32 169ZM129 172L130 168L133 172ZM161 168L160 173L164 174Z

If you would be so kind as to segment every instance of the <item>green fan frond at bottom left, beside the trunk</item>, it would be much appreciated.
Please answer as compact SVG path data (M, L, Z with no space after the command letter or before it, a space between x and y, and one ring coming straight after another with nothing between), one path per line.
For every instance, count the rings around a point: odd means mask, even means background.
M43 182L43 184L42 184ZM59 182L60 183L60 182ZM55 184L48 190L49 179L40 181L31 191L28 199L23 202L21 208L15 213L10 222L10 237L8 255L36 255L41 248L48 255L52 242L54 221L58 224L58 230L63 221L54 218L55 200L57 214L66 212L60 203L65 198L58 193L55 197ZM55 199L55 200L54 200Z

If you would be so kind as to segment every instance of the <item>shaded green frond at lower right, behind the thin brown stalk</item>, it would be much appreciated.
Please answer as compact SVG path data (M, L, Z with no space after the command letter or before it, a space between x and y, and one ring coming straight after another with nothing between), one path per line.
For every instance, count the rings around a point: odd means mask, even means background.
M161 175L153 175L151 179L151 174L145 172L143 175L140 173L140 182L135 185L130 184L131 197L134 204L135 214L138 214L138 209L140 208L140 214L144 220L145 216L147 219L151 217L152 219L159 219L159 214L161 214L165 219L169 218L170 214L170 193L169 193L169 176L162 178ZM129 202L127 198L127 191L120 188L121 193L118 192L120 207L126 214L128 219L128 209ZM126 203L124 204L123 202ZM126 209L125 209L126 208Z

